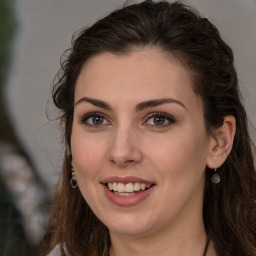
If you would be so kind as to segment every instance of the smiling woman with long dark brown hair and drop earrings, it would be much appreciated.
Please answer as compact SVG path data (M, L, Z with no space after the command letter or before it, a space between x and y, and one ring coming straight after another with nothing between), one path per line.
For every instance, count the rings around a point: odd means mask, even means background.
M255 169L232 50L182 3L84 29L53 90L57 255L256 255Z

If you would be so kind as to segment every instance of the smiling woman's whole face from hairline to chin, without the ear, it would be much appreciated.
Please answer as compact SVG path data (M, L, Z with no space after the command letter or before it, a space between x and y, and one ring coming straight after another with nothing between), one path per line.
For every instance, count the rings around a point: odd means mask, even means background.
M84 64L72 165L110 233L143 236L202 219L210 141L190 74L170 55L145 48Z

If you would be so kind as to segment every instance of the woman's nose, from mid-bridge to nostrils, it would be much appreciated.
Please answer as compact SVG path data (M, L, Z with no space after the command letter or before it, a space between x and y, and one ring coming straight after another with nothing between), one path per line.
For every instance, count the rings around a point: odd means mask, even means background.
M109 147L109 160L120 168L138 164L143 158L136 131L119 127L113 132Z

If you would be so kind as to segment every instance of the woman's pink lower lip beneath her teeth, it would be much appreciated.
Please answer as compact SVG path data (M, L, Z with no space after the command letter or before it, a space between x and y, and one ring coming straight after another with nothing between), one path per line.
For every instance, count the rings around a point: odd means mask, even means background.
M154 186L147 190L136 192L130 196L119 196L111 192L105 185L103 185L106 197L114 204L119 206L133 206L144 201L153 191Z

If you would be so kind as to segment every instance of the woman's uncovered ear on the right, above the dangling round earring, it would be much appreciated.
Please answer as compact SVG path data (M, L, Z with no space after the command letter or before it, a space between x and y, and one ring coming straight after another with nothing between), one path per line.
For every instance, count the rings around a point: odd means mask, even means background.
M231 152L236 131L234 116L225 116L223 125L212 131L207 166L210 169L219 168Z

